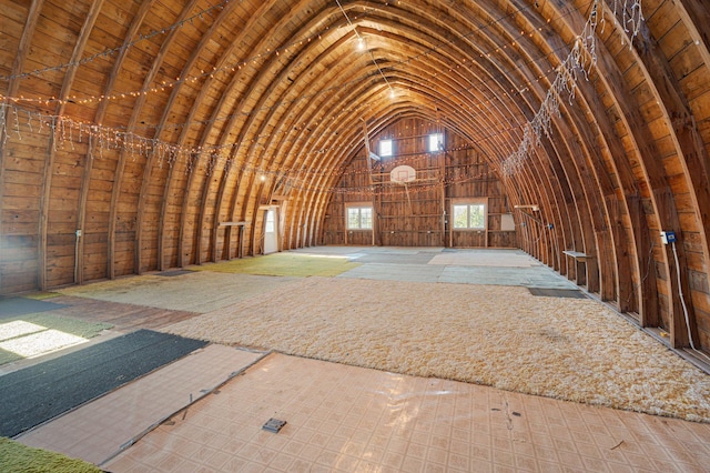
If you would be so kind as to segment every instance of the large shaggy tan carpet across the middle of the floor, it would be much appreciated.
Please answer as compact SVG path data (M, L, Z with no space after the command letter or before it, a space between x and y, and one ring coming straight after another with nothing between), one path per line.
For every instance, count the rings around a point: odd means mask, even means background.
M595 301L524 288L308 278L165 330L710 421L709 375Z

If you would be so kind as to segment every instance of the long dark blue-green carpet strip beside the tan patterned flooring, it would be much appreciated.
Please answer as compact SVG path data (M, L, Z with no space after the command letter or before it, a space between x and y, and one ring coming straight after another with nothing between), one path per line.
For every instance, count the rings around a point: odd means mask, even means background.
M0 436L16 436L206 344L140 330L0 376Z

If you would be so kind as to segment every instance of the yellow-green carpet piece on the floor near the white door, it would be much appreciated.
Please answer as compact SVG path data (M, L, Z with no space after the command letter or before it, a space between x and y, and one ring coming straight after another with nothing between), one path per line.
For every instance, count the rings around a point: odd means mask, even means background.
M191 266L193 271L215 271L280 276L336 276L359 266L346 258L313 256L296 253L274 253L266 256L246 258L222 263Z

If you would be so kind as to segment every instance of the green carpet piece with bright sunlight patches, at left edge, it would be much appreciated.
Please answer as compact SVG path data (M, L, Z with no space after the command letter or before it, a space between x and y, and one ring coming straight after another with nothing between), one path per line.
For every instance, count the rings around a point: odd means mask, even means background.
M32 323L43 328L44 330L38 329L37 332L32 333L41 333L48 330L57 330L59 332L69 333L71 335L81 336L82 339L92 339L100 334L103 330L111 329L113 325L103 322L87 322L77 319L70 319L65 316L52 315L49 312L39 312L34 314L22 314L22 315L12 315L9 318L2 318L0 320L0 344L7 341L13 341L20 339L22 336L28 335L21 334L18 336L6 336L2 332L2 326L9 324L10 322L22 321ZM23 356L13 353L12 351L4 350L0 346L0 365L10 363L17 360L21 360Z

